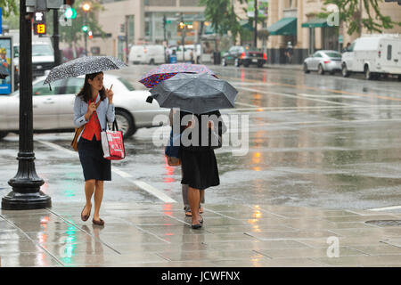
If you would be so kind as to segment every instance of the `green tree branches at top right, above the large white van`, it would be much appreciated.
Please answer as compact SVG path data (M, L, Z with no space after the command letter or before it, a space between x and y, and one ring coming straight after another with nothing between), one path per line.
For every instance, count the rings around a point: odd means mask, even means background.
M401 22L391 20L391 17L381 13L379 4L383 0L325 0L324 4L335 4L339 8L340 22L348 23L348 35L354 32L361 34L362 28L369 32L379 32L383 29L394 28L394 25L401 26ZM367 18L362 17L362 10L367 13ZM331 12L323 9L318 17L328 17Z

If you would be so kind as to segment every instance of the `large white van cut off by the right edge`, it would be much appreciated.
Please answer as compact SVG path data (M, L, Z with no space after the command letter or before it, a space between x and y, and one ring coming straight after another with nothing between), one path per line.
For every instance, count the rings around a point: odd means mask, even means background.
M342 76L364 72L368 80L381 74L401 78L401 35L378 34L357 38L342 54Z

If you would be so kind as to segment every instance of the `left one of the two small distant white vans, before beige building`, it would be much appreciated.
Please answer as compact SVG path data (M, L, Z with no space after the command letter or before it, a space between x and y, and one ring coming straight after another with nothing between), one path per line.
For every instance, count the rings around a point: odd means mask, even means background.
M133 45L129 51L128 61L133 64L165 63L164 45Z

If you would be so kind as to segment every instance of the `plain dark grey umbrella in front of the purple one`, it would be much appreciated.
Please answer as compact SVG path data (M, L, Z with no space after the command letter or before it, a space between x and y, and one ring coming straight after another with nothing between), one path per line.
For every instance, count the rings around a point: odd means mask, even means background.
M160 107L180 108L193 114L234 108L238 91L225 80L207 73L179 73L151 89Z

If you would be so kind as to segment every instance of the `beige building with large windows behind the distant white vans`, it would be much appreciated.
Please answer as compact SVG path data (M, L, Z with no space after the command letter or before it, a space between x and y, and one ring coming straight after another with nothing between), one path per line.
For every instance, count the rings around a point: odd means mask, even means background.
M88 54L109 54L126 60L131 45L186 45L199 41L204 7L200 0L103 0L98 19L107 38L87 41ZM166 20L166 25L163 24Z

